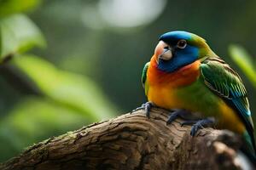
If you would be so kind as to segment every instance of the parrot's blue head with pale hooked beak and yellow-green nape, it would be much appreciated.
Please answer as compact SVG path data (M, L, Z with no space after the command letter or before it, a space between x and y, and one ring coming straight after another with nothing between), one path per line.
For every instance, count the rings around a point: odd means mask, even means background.
M167 32L159 41L154 56L161 71L177 71L207 54L214 54L203 38L187 31Z

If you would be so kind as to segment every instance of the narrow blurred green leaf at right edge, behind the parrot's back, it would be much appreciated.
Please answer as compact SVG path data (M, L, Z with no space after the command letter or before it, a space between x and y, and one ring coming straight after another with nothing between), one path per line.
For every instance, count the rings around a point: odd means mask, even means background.
M239 45L230 45L229 51L231 58L236 62L236 64L241 68L241 70L256 88L256 67L253 65L253 57L250 56L247 51Z

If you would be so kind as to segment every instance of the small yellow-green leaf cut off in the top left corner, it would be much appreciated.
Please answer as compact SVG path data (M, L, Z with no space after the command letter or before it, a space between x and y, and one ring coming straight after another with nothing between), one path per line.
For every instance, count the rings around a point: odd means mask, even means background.
M39 0L0 0L0 17L36 8Z

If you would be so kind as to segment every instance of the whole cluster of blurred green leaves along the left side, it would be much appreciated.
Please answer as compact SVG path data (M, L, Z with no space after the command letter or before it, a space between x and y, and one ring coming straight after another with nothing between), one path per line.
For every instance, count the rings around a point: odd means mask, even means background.
M0 1L0 161L40 140L116 113L90 77L27 54L45 47L44 36L25 14L16 13L37 5L36 0Z

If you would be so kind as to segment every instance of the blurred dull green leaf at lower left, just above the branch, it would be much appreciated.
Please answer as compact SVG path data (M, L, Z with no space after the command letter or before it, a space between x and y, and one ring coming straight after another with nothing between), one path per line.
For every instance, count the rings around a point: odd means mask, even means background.
M85 116L49 99L24 98L0 122L0 161L51 136L88 124Z

